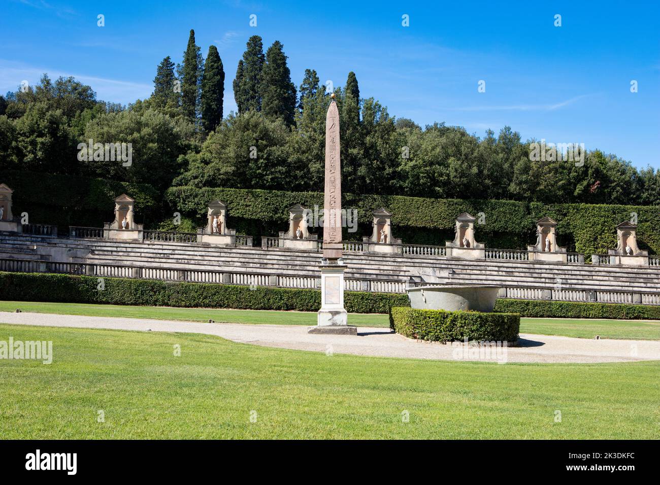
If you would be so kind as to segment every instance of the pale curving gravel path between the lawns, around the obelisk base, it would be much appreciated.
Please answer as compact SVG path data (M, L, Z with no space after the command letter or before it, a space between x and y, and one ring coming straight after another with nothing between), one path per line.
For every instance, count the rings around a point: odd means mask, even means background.
M360 327L358 335L308 334L300 325L244 325L238 323L191 323L117 317L86 317L49 313L0 312L1 323L44 325L48 327L81 327L158 332L186 332L217 335L267 347L314 350L336 354L402 357L433 360L485 360L492 362L629 362L660 360L657 340L591 340L550 335L521 334L520 346L486 348L463 344L418 342L389 329ZM5 340L0 335L0 340ZM9 337L9 336L6 336Z

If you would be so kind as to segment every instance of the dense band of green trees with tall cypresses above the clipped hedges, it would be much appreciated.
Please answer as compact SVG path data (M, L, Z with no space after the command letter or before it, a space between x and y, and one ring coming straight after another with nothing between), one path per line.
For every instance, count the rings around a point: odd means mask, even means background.
M72 77L44 75L35 86L7 93L0 97L0 170L96 176L159 191L170 185L321 190L330 97L316 71L306 69L296 97L282 44L275 41L264 55L261 38L252 36L232 83L238 113L223 118L224 70L215 46L202 61L191 32L183 66L175 73L165 57L152 96L128 107L97 100ZM181 94L173 88L179 83ZM588 150L583 164L534 161L535 140L521 140L510 127L482 137L445 123L421 127L365 98L353 72L335 94L345 191L660 204L660 171L638 170L614 154ZM90 139L130 143L131 166L79 160L77 146Z

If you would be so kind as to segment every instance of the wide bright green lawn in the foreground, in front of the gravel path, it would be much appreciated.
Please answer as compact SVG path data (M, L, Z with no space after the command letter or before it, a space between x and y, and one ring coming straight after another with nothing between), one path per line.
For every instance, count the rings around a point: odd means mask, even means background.
M660 362L327 356L210 335L0 324L0 340L10 336L52 340L53 362L0 360L3 439L660 437Z

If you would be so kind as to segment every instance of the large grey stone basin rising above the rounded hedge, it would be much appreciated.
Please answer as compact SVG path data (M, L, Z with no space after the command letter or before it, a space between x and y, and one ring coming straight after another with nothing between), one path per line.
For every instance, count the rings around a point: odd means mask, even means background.
M411 307L429 310L493 311L497 286L416 286L407 288Z

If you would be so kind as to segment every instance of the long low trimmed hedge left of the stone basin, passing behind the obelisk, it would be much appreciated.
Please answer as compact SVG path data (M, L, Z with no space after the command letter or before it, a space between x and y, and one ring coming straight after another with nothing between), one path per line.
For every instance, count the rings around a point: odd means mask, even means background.
M203 284L52 275L46 273L0 272L0 300L22 302L101 303L138 306L238 308L256 310L317 311L319 290L257 287L233 284ZM345 292L350 313L387 313L391 306L409 304L403 294Z

